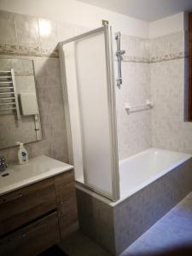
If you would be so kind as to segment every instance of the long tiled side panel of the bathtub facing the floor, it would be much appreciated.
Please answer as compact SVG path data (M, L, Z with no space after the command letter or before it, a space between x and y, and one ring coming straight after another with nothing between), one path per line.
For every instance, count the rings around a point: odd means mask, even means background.
M192 160L188 160L117 205L114 209L117 253L123 252L191 190Z

